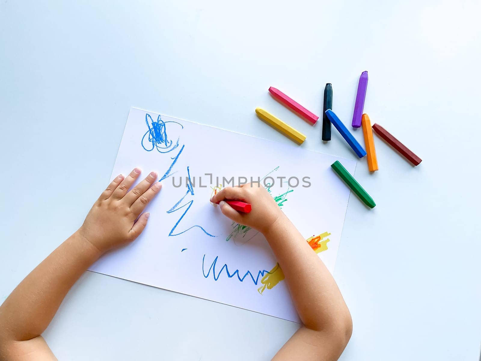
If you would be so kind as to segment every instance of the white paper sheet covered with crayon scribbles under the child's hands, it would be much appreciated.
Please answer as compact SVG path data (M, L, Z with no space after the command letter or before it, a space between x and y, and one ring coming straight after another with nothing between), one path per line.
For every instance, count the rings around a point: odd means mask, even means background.
M111 178L139 167L140 181L155 170L163 188L146 208L151 216L139 238L90 270L298 322L285 282L262 282L277 264L265 238L235 232L240 227L209 199L223 177L225 185L231 177L274 181L271 194L306 239L330 233L318 255L332 272L350 193L330 168L335 160L354 173L352 160L131 108Z

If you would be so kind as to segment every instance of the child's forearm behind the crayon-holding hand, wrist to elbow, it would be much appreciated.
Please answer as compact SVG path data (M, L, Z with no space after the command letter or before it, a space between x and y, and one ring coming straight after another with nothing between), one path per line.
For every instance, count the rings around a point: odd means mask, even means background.
M316 331L345 332L349 339L351 315L341 292L302 234L282 214L264 236L284 272L304 325Z

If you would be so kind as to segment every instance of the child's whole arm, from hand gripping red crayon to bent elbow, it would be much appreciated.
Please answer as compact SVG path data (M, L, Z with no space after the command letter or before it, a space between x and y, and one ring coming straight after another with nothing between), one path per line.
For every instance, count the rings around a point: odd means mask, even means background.
M251 213L237 212L225 202L221 202L220 207L233 221L264 234L304 323L273 360L337 360L351 337L352 320L324 263L258 183L224 188L211 202L223 199L252 204Z

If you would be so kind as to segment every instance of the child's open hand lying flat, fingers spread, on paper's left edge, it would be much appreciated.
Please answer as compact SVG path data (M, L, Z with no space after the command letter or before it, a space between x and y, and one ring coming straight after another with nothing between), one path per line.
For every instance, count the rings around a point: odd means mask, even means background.
M135 168L125 180L122 175L115 178L92 206L78 230L101 253L133 241L147 225L149 213L139 215L162 185L155 182L151 187L157 179L157 173L152 172L128 192L139 174L140 169Z

